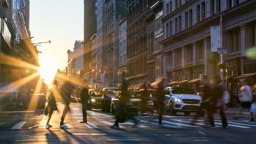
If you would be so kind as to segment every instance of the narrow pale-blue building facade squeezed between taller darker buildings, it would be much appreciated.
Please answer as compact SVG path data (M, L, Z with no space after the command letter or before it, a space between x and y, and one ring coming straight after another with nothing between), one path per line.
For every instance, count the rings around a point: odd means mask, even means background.
M118 22L119 27L119 67L118 71L126 70L126 17Z

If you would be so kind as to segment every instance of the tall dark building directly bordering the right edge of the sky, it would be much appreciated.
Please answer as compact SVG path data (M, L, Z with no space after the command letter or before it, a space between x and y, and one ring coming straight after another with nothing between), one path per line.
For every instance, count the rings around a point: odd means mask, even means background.
M90 77L92 42L91 37L97 32L96 0L84 0L84 78Z

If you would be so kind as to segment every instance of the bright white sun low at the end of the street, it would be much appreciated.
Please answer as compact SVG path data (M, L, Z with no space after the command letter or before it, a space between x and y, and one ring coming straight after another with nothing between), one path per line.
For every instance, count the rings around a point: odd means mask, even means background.
M39 72L43 79L45 79L44 83L50 84L52 79L56 74L56 67L53 61L40 61Z

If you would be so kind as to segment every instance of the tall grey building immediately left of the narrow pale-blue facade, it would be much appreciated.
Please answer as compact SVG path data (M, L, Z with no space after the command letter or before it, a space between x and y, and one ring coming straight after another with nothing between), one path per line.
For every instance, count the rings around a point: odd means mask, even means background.
M114 87L118 83L119 26L125 13L124 0L104 0L103 13L103 70L104 84Z

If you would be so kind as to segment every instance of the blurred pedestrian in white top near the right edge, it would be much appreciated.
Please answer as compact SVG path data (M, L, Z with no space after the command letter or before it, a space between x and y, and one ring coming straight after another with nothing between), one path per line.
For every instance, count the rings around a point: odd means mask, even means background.
M248 85L247 79L241 79L240 81L241 81L241 88L240 88L241 104L236 113L236 116L234 117L234 120L237 120L238 116L241 115L241 111L243 108L250 109L252 101L253 101L252 88ZM254 122L253 113L250 112L250 114L251 114L252 118L249 122Z

